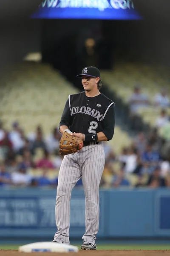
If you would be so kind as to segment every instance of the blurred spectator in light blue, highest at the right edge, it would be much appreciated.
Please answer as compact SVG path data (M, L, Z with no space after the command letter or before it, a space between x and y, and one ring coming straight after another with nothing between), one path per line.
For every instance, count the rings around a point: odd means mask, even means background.
M170 106L170 100L167 96L167 90L165 88L162 88L160 93L157 93L154 98L154 104L157 107L161 108L167 108Z

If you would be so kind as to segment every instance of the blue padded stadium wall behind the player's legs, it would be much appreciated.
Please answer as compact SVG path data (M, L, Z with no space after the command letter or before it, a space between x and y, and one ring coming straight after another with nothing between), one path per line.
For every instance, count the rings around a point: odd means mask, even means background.
M1 189L0 241L51 240L56 232L56 189ZM73 189L71 239L85 233L85 197ZM99 239L169 239L169 189L100 190Z

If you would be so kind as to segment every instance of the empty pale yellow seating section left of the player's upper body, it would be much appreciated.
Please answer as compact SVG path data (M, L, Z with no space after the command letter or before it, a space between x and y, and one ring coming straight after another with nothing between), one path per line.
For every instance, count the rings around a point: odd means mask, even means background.
M48 64L23 62L13 69L0 84L0 118L5 128L10 130L17 120L26 134L39 124L49 134L59 124L68 95L78 90Z

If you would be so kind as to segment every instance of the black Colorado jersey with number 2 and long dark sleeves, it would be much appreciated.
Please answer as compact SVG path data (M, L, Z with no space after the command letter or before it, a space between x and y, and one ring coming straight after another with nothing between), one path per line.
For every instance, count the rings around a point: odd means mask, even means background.
M114 102L102 93L95 97L86 96L85 91L69 95L59 127L61 125L82 134L102 131L111 140L115 126Z

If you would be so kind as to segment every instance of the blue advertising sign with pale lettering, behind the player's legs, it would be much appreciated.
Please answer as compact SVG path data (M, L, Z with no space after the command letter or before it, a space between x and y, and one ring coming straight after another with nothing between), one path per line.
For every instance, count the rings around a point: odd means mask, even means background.
M80 200L81 199L81 200ZM83 198L84 199L84 198ZM85 228L85 200L71 201L71 227ZM0 228L55 228L55 198L0 198Z

